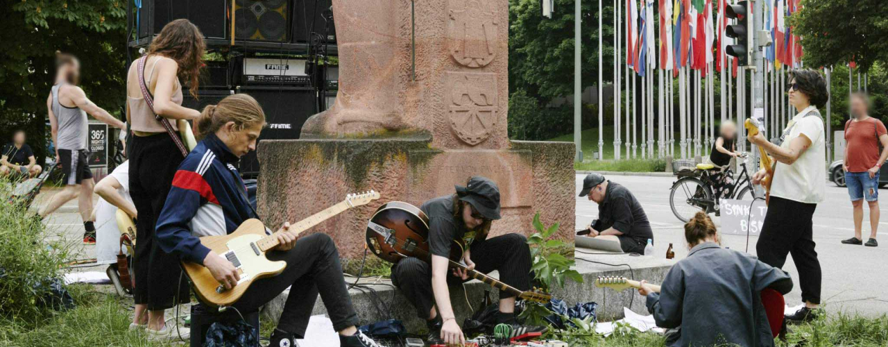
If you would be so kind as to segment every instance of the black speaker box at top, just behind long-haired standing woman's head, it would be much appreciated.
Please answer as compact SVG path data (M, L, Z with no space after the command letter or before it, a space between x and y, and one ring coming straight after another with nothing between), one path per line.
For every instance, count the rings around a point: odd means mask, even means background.
M139 38L160 34L172 20L186 19L201 29L204 37L226 39L230 0L142 0L137 8Z

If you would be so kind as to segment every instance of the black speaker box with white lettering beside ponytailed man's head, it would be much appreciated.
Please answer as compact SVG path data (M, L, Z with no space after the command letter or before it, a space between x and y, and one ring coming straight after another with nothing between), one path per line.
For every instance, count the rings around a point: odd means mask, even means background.
M311 88L250 86L237 87L238 94L248 94L259 102L266 113L266 129L262 130L259 142L265 139L299 138L302 124L315 114L317 98ZM256 177L259 162L256 152L241 158L239 170L242 176Z

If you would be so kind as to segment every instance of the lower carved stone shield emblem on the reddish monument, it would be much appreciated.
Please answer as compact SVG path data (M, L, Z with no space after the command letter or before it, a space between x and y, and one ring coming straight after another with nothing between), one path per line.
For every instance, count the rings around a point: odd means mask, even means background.
M490 137L496 122L496 74L448 72L447 106L456 137L475 146Z

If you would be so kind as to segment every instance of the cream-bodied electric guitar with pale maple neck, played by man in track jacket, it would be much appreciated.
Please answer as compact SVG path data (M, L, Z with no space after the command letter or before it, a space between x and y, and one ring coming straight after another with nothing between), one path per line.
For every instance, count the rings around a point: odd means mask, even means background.
M290 225L288 233L298 235L346 209L366 205L377 199L379 199L379 193L374 191L346 195L344 201ZM201 238L201 244L212 249L219 256L225 257L234 264L241 275L241 280L234 288L226 289L213 278L210 270L206 267L201 264L182 262L182 268L185 269L193 284L194 293L205 304L217 306L234 304L247 291L253 281L275 276L287 266L285 262L273 262L266 258L266 252L278 245L277 233L266 235L266 226L262 225L258 219L248 219L234 233L204 236Z

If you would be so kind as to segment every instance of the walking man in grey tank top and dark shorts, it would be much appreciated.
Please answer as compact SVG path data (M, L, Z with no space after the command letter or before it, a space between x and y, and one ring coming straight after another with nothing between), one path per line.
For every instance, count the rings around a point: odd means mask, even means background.
M83 218L83 243L96 243L96 228L92 225L92 172L89 166L89 153L86 150L86 114L97 120L126 130L126 123L108 114L90 99L77 82L80 76L80 62L70 54L56 51L56 81L52 86L46 108L49 110L52 126L52 142L56 145L56 164L62 171L65 188L52 196L40 217L46 217L67 201L79 196L78 207Z

